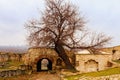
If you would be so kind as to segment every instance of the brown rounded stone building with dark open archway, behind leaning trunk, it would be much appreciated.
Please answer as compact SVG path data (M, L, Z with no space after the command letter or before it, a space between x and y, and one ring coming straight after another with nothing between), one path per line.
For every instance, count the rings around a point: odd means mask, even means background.
M73 63L74 55L70 52L67 53L70 57L70 61ZM23 57L23 61L25 65L32 66L33 70L37 72L42 70L56 70L65 67L62 59L51 48L29 48L28 52Z

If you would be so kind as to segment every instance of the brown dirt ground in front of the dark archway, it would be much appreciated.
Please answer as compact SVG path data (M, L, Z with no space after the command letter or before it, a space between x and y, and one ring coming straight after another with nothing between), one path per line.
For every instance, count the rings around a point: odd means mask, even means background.
M61 80L59 74L49 72L37 72L30 75L21 75L9 78L0 78L0 80Z

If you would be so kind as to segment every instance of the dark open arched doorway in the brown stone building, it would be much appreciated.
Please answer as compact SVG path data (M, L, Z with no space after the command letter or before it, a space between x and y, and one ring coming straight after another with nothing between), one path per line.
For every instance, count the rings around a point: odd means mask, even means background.
M52 70L52 61L48 58L42 58L37 62L37 72Z

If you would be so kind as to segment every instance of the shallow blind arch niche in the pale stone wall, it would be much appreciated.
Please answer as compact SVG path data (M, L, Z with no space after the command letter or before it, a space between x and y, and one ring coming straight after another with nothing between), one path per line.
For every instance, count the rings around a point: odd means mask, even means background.
M98 62L95 60L88 60L85 62L85 70L86 72L98 71Z

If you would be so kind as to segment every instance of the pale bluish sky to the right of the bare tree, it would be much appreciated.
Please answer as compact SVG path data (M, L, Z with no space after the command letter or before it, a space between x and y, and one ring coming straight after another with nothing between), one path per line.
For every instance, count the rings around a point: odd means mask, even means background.
M79 6L88 21L87 26L97 32L113 37L112 45L119 45L120 0L71 0Z

